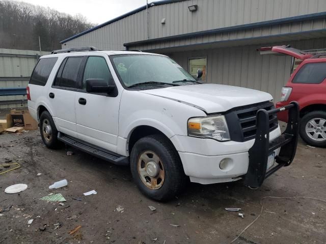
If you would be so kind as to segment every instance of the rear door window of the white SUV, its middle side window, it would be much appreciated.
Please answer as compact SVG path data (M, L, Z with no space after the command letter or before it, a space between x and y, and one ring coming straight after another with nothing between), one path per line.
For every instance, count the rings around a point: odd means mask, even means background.
M62 87L76 87L78 70L84 57L68 57L59 69L55 85ZM61 73L62 71L62 73Z

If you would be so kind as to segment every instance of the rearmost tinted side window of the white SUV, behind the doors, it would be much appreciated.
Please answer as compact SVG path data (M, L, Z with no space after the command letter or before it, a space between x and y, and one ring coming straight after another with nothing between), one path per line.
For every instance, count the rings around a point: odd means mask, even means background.
M44 86L57 60L58 57L41 58L35 66L30 84Z

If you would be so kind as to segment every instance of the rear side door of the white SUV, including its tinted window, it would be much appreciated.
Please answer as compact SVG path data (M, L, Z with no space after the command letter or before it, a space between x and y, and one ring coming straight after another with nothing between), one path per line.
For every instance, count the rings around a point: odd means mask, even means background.
M48 90L58 131L76 137L75 96L83 75L85 56L66 57Z

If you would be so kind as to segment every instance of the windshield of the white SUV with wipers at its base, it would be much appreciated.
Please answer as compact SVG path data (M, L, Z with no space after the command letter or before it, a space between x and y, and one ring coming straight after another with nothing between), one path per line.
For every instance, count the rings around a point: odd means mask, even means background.
M197 84L196 79L169 57L148 54L113 56L113 64L125 86ZM180 83L178 83L180 82Z

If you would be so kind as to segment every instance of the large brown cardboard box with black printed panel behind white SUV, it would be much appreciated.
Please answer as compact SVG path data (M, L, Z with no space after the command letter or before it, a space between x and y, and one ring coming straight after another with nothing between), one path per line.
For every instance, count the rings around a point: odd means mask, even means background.
M38 124L28 110L13 109L10 114L7 114L7 126L23 127L24 130L36 130Z

